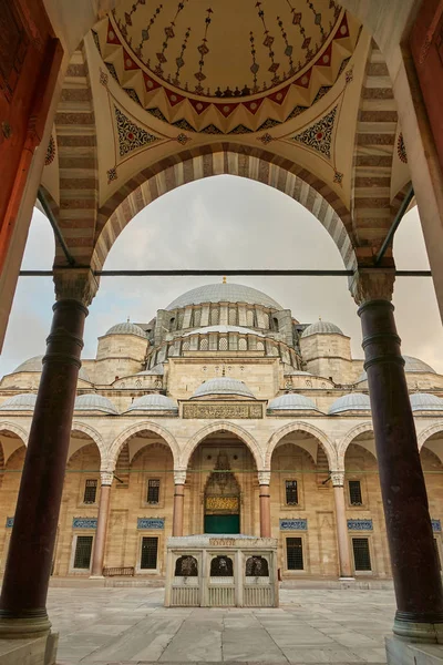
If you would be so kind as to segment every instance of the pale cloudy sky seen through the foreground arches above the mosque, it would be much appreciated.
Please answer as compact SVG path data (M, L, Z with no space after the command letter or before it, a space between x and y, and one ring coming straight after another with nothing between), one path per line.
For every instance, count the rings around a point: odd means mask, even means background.
M54 241L48 219L34 211L23 269L50 269ZM399 269L429 269L416 208L395 234ZM339 250L320 222L284 193L261 183L219 175L189 183L151 203L117 238L105 269L321 268L342 269ZM84 358L114 324L147 323L181 294L222 277L107 277L90 307ZM351 337L362 358L357 306L342 277L229 277L265 291L300 323L321 317ZM0 376L44 352L52 304L51 278L22 277L0 358ZM398 278L393 303L402 350L443 374L442 325L430 278Z

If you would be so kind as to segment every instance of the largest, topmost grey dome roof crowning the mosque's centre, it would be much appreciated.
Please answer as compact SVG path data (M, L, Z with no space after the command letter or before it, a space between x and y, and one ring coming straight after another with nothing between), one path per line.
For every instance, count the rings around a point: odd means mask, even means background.
M262 305L270 309L282 309L281 305L266 294L243 284L198 286L173 300L166 309L179 309L187 305L200 305L202 303L247 303L248 305Z

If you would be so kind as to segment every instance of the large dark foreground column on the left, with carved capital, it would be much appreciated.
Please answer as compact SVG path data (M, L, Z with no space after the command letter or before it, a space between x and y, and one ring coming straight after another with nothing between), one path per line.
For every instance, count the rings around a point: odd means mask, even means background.
M0 637L47 634L48 584L71 436L83 327L96 282L60 272L0 597Z

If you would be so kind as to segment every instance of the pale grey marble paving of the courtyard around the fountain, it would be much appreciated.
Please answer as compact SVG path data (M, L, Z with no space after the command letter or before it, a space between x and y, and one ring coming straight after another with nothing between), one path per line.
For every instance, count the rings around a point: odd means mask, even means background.
M385 663L394 614L391 590L281 590L272 610L162 603L162 589L51 589L58 664Z

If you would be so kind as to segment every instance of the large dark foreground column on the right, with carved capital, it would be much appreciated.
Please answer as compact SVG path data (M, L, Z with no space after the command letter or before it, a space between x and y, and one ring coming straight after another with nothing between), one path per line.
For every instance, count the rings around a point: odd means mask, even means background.
M357 274L388 542L396 596L393 632L412 642L443 643L442 580L434 551L424 477L393 306L394 277Z

